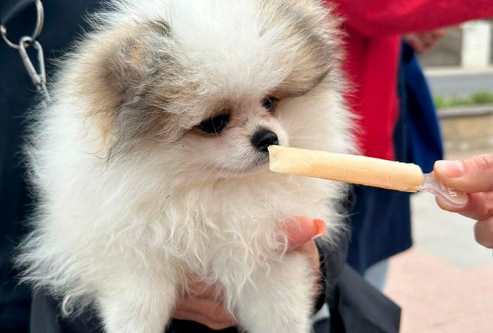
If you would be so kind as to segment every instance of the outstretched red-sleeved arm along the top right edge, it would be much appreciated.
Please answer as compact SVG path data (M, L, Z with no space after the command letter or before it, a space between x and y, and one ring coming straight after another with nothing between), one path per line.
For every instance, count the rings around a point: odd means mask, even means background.
M366 36L434 30L493 16L491 0L325 0Z

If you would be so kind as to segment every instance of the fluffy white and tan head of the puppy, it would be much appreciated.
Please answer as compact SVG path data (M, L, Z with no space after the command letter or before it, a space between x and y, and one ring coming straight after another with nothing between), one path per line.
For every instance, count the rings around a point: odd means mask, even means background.
M241 175L289 144L286 103L335 84L327 11L311 0L120 1L75 56L75 94L110 159Z

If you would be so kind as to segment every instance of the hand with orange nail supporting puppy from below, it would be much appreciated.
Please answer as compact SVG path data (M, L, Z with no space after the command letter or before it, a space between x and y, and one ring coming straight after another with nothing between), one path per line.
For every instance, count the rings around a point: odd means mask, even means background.
M325 234L325 222L306 217L292 218L283 223L283 230L288 237L289 251L304 253L313 266L314 274L320 276L320 259L313 239ZM173 318L199 322L216 330L236 325L223 302L215 298L214 286L195 282L189 287L190 294L178 300Z

